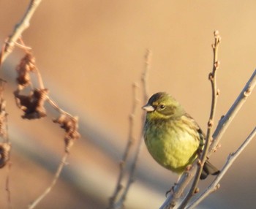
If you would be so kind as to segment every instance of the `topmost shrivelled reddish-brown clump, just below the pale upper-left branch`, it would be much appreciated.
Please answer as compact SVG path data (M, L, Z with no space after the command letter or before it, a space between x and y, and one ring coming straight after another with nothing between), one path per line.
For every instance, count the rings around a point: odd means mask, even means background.
M18 72L17 82L20 88L29 86L31 83L30 72L36 69L35 58L31 53L26 53L26 55L20 60L16 71Z

